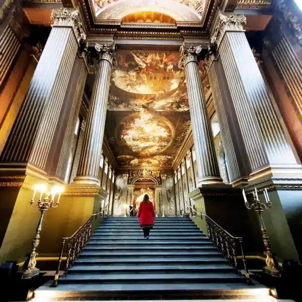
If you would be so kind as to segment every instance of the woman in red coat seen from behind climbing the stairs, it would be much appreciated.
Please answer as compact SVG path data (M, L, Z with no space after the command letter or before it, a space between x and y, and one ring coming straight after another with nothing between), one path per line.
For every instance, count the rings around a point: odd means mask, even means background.
M145 194L143 200L139 205L138 215L139 225L143 231L143 237L149 239L150 230L153 229L155 211L153 203L149 201L149 195Z

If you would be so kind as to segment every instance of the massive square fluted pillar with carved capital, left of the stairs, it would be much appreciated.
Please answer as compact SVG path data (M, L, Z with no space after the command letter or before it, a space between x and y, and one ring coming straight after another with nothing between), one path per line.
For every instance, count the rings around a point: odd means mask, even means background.
M85 37L79 11L52 12L54 24L10 136L0 157L20 167L44 172L59 113L80 40ZM27 165L27 164L30 165Z

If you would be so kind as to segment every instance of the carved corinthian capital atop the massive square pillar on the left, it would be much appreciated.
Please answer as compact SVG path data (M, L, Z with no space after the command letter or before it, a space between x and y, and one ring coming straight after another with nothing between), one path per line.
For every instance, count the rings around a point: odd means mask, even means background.
M62 8L53 10L51 18L54 20L53 26L72 27L78 43L86 40L83 23L81 22L80 12L74 9Z

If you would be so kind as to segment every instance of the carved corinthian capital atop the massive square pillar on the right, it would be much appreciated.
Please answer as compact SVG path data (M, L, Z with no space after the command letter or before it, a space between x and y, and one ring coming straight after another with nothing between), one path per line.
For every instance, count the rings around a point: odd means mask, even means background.
M244 15L231 14L228 16L220 14L215 26L214 34L211 37L211 43L219 46L224 33L227 31L244 31L247 18Z

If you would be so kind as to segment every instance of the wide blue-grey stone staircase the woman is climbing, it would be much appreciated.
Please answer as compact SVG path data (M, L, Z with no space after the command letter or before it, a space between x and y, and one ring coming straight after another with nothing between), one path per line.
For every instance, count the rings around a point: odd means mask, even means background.
M137 218L108 217L58 287L45 284L35 298L269 301L268 291L245 284L190 218L156 218L147 241Z

